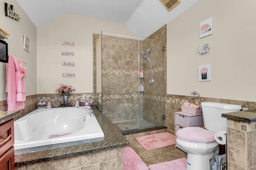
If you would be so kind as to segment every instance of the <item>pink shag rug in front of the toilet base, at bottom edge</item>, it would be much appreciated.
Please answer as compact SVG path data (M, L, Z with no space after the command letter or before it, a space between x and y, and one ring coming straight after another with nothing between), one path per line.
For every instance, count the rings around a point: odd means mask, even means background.
M150 170L186 170L187 159L180 158L148 166Z

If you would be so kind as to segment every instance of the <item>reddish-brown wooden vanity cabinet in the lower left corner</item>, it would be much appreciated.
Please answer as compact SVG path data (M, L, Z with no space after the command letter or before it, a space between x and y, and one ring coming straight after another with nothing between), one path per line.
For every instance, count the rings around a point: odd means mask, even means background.
M14 119L0 124L0 170L14 170Z

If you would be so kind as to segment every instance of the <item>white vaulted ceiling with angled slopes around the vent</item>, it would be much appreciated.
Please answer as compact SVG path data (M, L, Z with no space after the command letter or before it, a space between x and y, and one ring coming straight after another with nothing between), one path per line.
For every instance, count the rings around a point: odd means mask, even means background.
M141 37L148 37L198 1L181 0L167 11L159 0L17 0L36 27L68 12L124 23Z

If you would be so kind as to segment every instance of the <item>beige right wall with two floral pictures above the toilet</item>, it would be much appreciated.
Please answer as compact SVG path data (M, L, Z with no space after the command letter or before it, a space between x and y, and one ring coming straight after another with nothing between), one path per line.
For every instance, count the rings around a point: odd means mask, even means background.
M167 25L167 94L256 102L256 1L200 0ZM199 23L213 17L213 34L199 38ZM204 41L209 52L198 53ZM198 82L211 64L212 80Z

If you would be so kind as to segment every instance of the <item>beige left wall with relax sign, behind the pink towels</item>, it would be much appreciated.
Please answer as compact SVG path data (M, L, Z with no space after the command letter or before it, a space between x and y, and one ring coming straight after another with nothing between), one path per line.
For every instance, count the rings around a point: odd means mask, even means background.
M4 3L14 5L14 12L20 16L20 21L6 17L4 13ZM22 10L16 0L0 0L0 27L10 34L8 39L8 54L16 56L26 62L26 96L36 94L36 27ZM23 49L23 35L27 35L31 40L30 53ZM0 63L0 100L7 99L5 92L6 85L6 64Z

